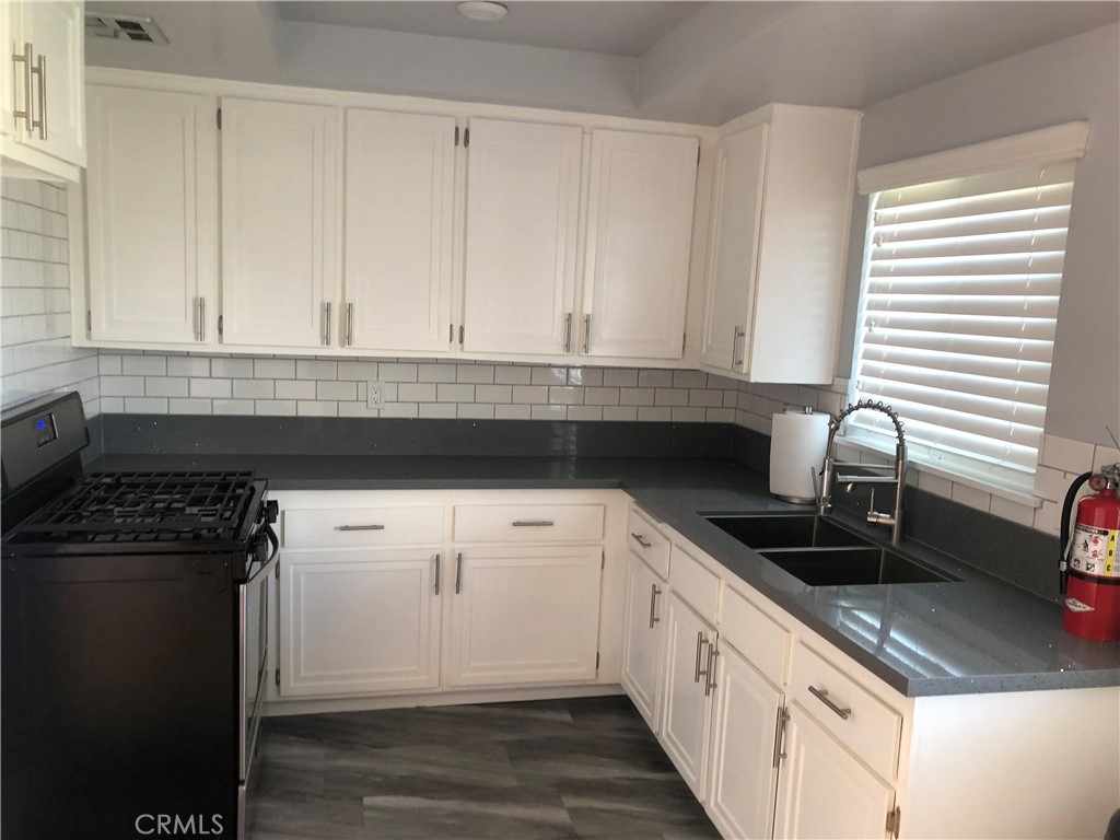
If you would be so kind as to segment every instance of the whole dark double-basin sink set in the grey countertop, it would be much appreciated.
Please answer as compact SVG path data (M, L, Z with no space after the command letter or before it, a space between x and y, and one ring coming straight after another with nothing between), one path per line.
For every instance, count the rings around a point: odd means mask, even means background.
M875 544L811 514L701 514L809 586L955 581L944 572Z

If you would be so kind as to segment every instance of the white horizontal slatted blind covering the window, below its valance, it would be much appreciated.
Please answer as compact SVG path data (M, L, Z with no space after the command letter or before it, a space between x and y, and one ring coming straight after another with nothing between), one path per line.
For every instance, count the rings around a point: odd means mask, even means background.
M1073 176L1067 160L872 194L853 395L898 411L915 463L1032 492ZM893 449L886 418L850 422Z

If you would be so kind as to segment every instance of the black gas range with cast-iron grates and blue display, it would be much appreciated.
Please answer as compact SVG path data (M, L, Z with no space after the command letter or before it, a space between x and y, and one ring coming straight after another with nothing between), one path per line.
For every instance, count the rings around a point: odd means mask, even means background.
M250 473L85 474L76 393L0 433L0 836L241 838L278 542Z

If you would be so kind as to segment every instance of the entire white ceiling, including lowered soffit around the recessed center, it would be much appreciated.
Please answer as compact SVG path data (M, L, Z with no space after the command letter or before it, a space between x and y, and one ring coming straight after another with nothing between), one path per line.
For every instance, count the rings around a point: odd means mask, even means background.
M1120 20L1120 2L529 2L493 25L439 1L88 0L167 46L86 62L250 82L719 124L767 102L864 109Z

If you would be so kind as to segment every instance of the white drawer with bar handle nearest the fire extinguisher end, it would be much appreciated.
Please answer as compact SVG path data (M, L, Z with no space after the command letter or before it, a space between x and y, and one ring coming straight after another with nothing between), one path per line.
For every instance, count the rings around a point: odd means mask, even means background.
M822 699L810 687L827 696ZM872 771L894 778L902 716L800 642L793 650L790 696ZM846 710L847 719L829 703Z

